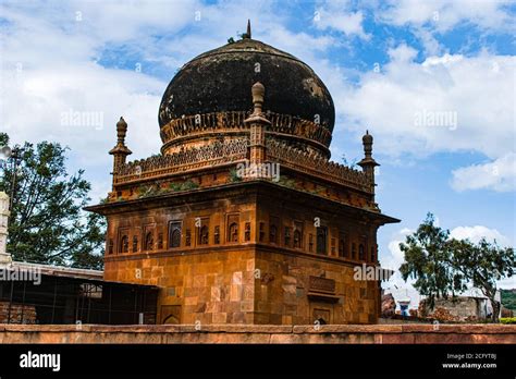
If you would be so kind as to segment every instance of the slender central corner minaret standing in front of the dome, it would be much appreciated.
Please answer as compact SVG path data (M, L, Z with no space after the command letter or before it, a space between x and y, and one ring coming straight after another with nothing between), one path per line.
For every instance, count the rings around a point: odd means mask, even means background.
M249 160L250 164L261 164L266 161L266 129L271 123L266 119L262 106L266 88L259 82L251 88L253 105L255 107L253 114L244 122L249 124Z

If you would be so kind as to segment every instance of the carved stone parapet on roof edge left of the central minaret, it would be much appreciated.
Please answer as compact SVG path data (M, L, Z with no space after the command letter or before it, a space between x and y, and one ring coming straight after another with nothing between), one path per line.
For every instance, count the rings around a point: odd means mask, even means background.
M247 138L217 142L167 156L128 162L114 174L114 183L122 184L243 160L247 156Z

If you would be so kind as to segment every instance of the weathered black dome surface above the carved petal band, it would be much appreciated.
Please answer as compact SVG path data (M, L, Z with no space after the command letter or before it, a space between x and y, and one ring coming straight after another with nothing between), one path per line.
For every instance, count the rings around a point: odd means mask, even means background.
M320 124L333 131L333 100L314 70L297 58L250 38L205 52L186 63L163 95L160 127L183 115L250 111L250 88L256 82L266 87L266 111L309 121L319 114Z

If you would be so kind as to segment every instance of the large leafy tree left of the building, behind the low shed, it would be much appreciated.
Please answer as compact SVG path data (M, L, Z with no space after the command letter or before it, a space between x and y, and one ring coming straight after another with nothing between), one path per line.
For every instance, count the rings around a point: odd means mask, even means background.
M0 145L9 136L0 133ZM41 142L22 146L9 222L8 250L13 259L77 268L102 268L106 221L83 207L90 184L83 170L65 168L67 148ZM14 170L4 164L0 185L11 195Z

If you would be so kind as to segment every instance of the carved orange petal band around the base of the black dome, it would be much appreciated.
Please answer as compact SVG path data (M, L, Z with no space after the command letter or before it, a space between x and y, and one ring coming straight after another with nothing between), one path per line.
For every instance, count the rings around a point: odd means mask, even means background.
M161 127L161 140L163 144L168 144L174 138L201 135L209 132L246 131L249 129L249 125L246 125L244 120L250 113L250 111L228 111L194 114L175 119ZM325 147L330 146L331 132L324 124L317 124L312 121L270 111L266 112L266 115L271 122L268 132L312 139Z

